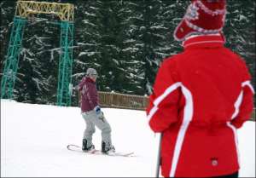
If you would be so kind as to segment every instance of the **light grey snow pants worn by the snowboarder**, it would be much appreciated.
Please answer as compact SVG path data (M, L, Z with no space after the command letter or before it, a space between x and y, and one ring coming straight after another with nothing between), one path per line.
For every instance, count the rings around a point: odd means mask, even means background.
M102 130L102 141L105 142L106 147L112 146L111 127L106 118L98 118L94 110L90 112L83 112L82 116L86 123L86 129L84 129L84 139L87 140L87 147L91 146L92 144L92 135L96 131L95 126Z

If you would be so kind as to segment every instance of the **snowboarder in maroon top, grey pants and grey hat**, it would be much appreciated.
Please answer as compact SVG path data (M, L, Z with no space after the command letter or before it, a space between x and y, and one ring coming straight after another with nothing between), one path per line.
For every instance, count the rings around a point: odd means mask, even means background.
M96 89L97 77L98 74L96 70L93 68L88 68L86 71L86 76L78 85L81 95L81 112L86 123L82 150L84 152L94 150L95 146L92 144L92 135L96 131L96 126L98 129L102 130L102 152L112 154L115 152L115 149L111 141L111 127L104 117L101 107L99 106L99 98Z

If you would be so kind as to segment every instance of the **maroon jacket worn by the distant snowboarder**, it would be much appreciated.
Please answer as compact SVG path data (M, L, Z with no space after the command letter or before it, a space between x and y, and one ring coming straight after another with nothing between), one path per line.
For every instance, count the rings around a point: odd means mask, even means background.
M79 91L82 94L81 110L89 112L99 105L99 97L96 83L90 78L83 78L79 83Z

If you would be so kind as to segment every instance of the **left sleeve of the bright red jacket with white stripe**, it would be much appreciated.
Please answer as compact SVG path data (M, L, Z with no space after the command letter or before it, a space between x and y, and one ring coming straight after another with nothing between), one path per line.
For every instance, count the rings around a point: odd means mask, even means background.
M149 126L154 132L162 132L177 122L178 100L181 93L177 78L175 61L164 61L157 73L154 92L149 96L146 111Z

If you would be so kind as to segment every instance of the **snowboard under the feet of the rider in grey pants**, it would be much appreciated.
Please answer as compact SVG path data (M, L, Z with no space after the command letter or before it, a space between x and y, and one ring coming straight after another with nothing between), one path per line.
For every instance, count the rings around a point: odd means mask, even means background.
M105 154L101 150L93 149L89 152L83 152L82 147L78 145L67 145L67 149L73 152L82 152L84 154L93 154L93 155L104 155L110 157L135 157L134 152L113 152L113 154Z

